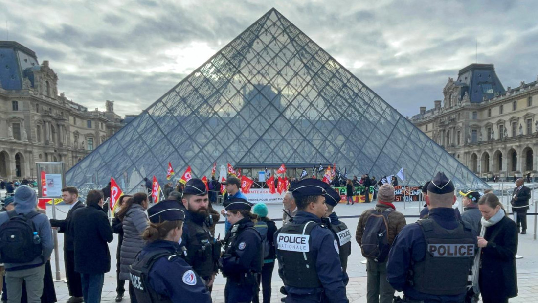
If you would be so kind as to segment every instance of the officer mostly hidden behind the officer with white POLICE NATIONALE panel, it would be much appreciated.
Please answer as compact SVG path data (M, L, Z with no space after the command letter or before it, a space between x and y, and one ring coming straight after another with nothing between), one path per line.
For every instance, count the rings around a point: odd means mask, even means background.
M344 272L345 284L348 284L349 278L346 269L348 268L348 257L351 255L351 231L344 222L340 221L338 216L332 210L338 205L342 197L332 187L325 187L325 205L327 205L327 226L332 231L338 243L340 251L340 262L342 263L342 271Z

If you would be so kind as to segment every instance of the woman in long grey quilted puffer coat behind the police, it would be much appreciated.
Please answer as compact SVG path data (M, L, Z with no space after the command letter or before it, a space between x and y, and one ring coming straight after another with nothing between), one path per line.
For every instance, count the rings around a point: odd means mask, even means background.
M141 235L147 227L146 209L148 206L147 195L136 193L133 198L127 200L123 208L119 211L119 220L123 224L123 243L120 252L119 278L129 281L129 265L134 262L136 255L144 247L144 240ZM129 281L129 297L131 303L136 303L134 288Z

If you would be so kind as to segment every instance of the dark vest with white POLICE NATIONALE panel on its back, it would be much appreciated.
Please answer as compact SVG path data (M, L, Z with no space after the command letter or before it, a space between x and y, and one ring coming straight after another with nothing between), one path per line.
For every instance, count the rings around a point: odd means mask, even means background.
M280 228L275 239L279 275L284 285L300 288L321 287L317 277L316 260L312 255L310 232L320 223L289 223Z

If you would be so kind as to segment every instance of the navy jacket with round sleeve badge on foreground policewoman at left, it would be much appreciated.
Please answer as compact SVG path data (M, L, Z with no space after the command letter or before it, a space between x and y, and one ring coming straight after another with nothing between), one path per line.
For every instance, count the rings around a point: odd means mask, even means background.
M150 242L140 251L140 258L148 252L162 249L174 254L179 250L179 244L165 240ZM178 256L157 260L151 267L148 280L153 291L170 298L174 303L211 302L211 294L204 281Z

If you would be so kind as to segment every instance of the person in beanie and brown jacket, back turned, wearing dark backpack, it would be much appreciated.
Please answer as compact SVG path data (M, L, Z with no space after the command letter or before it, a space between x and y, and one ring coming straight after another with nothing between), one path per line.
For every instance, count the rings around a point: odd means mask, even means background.
M402 213L397 212L394 202L394 187L390 184L384 184L379 187L376 208L365 210L359 217L355 240L362 248L363 235L368 232L378 232L377 230L365 230L369 219L372 215L378 216L386 222L386 238L388 247L392 246L394 238L406 226L405 217ZM374 227L375 225L371 224ZM379 249L379 248L377 248ZM363 250L364 252L364 250ZM388 251L387 251L388 252ZM368 303L392 303L394 297L394 288L387 281L387 260L374 260L366 257L366 301Z

